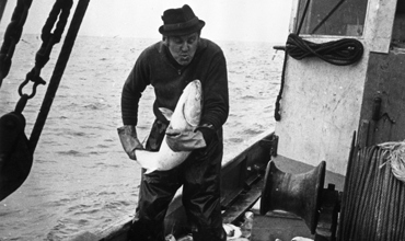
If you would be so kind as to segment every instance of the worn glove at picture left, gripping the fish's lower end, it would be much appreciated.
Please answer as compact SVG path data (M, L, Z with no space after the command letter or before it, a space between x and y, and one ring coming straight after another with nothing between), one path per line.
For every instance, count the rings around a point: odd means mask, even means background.
M117 130L120 144L123 145L125 152L130 159L137 160L137 157L135 156L135 150L143 149L142 144L137 137L137 129L135 128L135 126L126 125L117 128Z

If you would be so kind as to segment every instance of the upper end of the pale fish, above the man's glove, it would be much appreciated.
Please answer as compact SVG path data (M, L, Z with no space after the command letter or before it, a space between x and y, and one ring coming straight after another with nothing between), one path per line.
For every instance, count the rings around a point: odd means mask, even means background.
M188 125L197 127L202 112L202 87L199 80L194 80L187 84L183 94L187 99L184 102L183 115Z

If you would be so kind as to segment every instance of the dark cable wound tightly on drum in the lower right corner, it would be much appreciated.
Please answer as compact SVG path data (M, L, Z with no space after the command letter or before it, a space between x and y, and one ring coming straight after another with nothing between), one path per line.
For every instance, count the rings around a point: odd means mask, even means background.
M347 168L338 240L405 240L405 183L385 164L391 151L382 145L355 153Z

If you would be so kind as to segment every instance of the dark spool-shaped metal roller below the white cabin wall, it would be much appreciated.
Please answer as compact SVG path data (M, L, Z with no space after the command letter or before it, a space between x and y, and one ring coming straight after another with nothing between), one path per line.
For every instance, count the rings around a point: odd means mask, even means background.
M303 218L311 233L315 233L325 167L325 161L322 161L310 172L292 175L280 171L270 161L266 169L261 214L276 209L292 213Z

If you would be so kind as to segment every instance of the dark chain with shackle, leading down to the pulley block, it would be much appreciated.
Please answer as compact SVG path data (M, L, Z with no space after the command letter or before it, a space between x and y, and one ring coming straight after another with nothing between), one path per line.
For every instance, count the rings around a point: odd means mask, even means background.
M26 74L24 82L20 84L19 94L23 96L23 89L30 82L34 82L32 93L28 95L28 99L35 96L36 88L39 84L46 84L43 78L40 78L40 71L44 66L48 62L50 51L53 50L54 45L60 42L61 35L63 33L65 26L68 22L68 18L70 14L70 9L73 4L72 0L57 0L51 9L46 23L44 24L43 32L40 38L43 44L40 45L39 50L36 53L35 56L35 66L33 69ZM59 21L56 24L56 21ZM51 30L55 27L54 33Z

